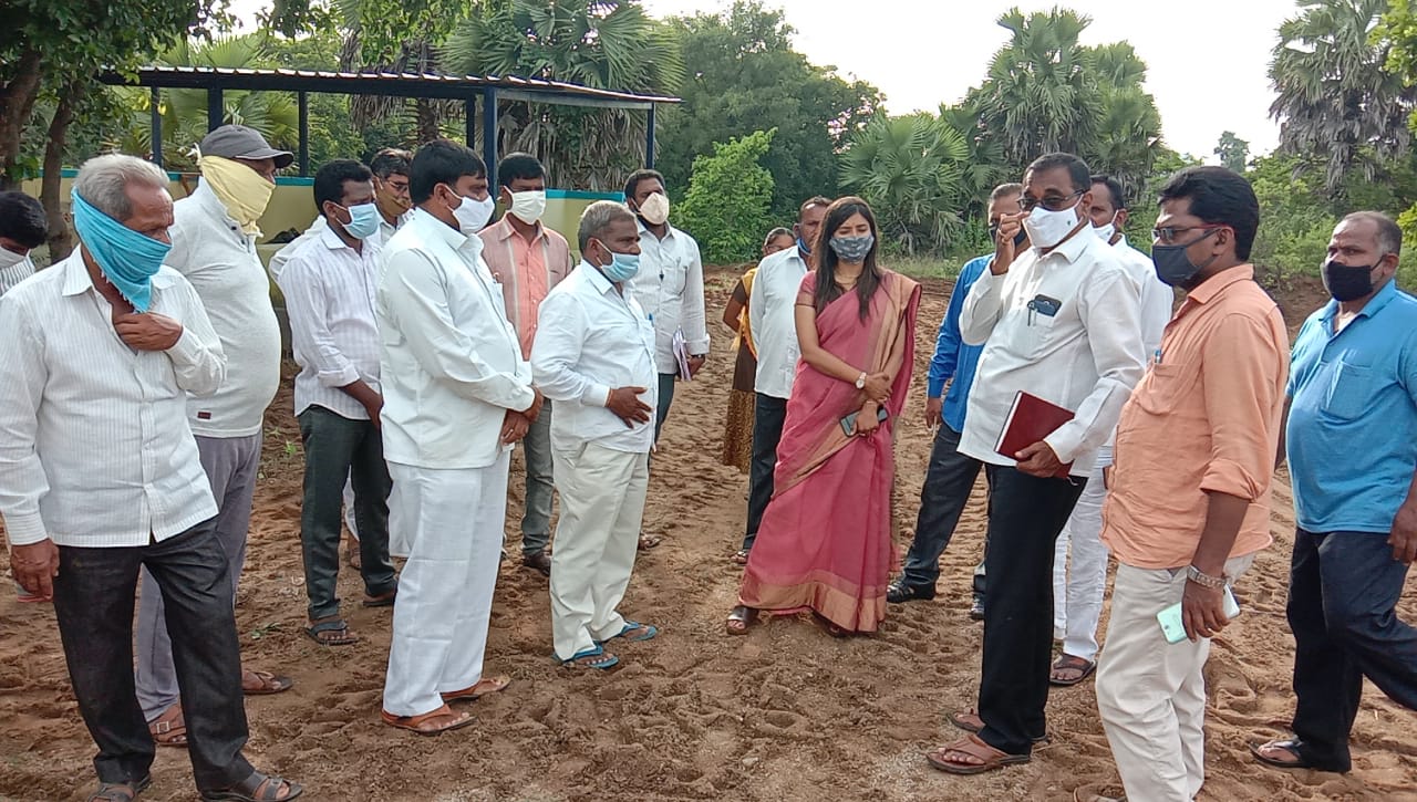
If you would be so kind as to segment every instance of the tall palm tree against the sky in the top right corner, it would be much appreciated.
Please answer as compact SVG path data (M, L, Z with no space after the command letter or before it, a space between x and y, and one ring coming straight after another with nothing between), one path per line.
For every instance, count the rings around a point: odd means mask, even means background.
M1280 120L1281 149L1325 162L1331 197L1350 170L1372 181L1407 153L1417 88L1384 69L1390 45L1372 40L1386 10L1387 0L1301 0L1299 14L1280 26L1270 116Z

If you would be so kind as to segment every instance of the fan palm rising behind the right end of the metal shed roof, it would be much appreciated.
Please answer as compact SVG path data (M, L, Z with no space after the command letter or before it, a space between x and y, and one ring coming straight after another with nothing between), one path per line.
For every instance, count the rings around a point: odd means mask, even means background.
M626 92L673 94L679 43L633 0L496 0L438 51L453 74L529 75ZM503 149L537 154L553 183L619 188L640 166L645 112L506 103ZM751 129L750 129L751 130Z

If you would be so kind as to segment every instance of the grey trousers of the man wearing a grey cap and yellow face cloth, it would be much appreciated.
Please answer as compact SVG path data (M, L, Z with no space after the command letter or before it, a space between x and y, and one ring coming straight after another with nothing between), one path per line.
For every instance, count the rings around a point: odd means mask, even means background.
M237 604L237 580L247 563L247 531L251 529L251 503L256 493L261 468L261 434L244 438L197 438L201 466L217 499L217 541L231 565L230 595ZM177 703L177 669L173 666L173 642L167 633L163 594L147 568L137 605L137 703L152 721Z

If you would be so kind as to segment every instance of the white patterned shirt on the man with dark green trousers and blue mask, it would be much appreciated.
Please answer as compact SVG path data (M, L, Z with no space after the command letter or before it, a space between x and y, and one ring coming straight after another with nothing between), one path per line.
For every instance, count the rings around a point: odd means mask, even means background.
M302 242L281 271L281 292L290 316L290 344L300 373L295 375L295 414L310 405L367 421L368 412L346 384L363 381L378 390L378 237L356 252L327 225Z

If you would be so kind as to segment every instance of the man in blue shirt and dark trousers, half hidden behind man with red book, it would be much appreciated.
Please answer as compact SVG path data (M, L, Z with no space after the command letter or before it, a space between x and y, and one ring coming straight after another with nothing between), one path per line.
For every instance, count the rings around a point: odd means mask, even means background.
M1000 184L989 196L989 234L993 238L999 220L1005 214L1019 213L1019 198L1023 184ZM1029 247L1027 234L1015 244L1017 252ZM988 268L993 254L978 256L965 264L949 293L949 307L939 323L939 337L935 340L935 356L930 360L930 375L925 384L925 425L935 429L935 445L930 451L930 468L925 485L920 490L920 516L915 519L915 538L905 554L905 570L886 591L890 602L935 598L935 581L939 580L939 555L955 534L959 514L964 513L979 478L982 462L959 453L959 434L965 431L965 402L973 384L975 366L983 346L966 346L959 337L959 310L969 296L969 288ZM945 392L945 385L949 391ZM941 395L944 400L941 401ZM988 470L985 479L988 480ZM985 544L988 548L988 543ZM973 604L969 618L983 618L985 575L983 560L975 567Z

